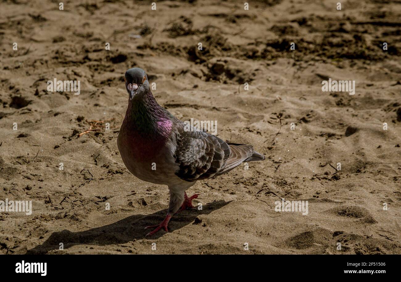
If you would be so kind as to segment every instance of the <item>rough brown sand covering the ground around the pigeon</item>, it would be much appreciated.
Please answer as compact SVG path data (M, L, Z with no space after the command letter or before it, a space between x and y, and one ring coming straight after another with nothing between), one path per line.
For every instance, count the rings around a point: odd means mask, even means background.
M0 254L401 254L401 4L336 2L3 0L0 200L33 208L0 212ZM152 238L168 189L117 149L132 67L177 118L266 156L196 182L202 210ZM322 92L329 78L355 94Z

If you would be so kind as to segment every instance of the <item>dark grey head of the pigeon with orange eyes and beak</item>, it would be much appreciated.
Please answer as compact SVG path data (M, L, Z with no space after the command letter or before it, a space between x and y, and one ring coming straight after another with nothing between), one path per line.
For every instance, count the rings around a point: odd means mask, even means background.
M130 100L149 91L148 76L142 68L130 68L124 76Z

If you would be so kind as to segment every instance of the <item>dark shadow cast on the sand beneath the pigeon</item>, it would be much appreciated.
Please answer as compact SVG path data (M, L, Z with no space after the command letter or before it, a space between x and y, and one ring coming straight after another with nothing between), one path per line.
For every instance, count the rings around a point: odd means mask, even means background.
M197 216L210 214L214 210L218 210L230 202L231 201L225 202L224 200L219 200L204 205L202 210L192 209L178 212L170 220L168 230L169 232L173 232L174 230L180 229L193 222ZM85 231L71 232L69 230L63 230L60 232L53 232L43 244L27 250L26 254L46 254L51 250L59 250L60 243L63 243L63 248L67 249L80 244L105 246L124 244L136 239L148 238L145 237L145 235L149 230L144 230L144 228L148 225L159 224L166 214L167 209L164 209L148 215L136 214L128 216L112 224L91 228ZM166 232L160 230L150 238L157 239L164 234L166 234Z

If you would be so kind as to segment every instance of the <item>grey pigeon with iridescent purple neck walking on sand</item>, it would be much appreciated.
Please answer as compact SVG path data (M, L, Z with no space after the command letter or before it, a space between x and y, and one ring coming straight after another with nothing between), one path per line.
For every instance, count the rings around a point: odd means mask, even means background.
M117 138L117 146L127 169L137 178L164 184L170 190L166 218L146 234L161 229L168 232L168 222L176 212L194 208L186 190L198 180L225 174L243 162L264 160L251 145L225 142L215 135L184 122L156 102L148 76L141 68L125 73L128 107Z

